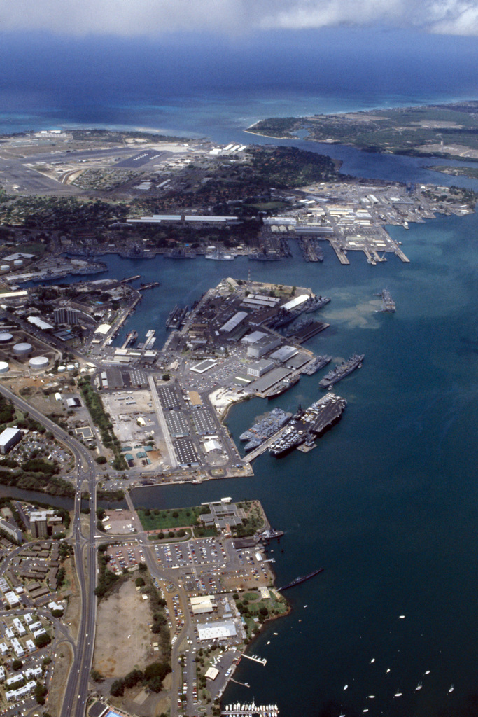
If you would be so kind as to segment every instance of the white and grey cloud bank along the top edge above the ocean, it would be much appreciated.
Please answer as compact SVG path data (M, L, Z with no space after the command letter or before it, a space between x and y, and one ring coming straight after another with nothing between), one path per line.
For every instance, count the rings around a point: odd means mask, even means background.
M478 34L478 0L0 0L4 32L147 35L244 34L338 25Z

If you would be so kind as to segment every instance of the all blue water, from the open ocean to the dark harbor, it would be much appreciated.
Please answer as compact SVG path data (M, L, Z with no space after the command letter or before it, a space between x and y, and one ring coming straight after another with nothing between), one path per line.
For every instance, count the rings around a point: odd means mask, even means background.
M244 128L272 115L478 95L472 38L372 29L295 37L140 44L32 36L29 54L6 37L0 129L115 126L269 142ZM340 158L348 174L478 191L475 181L427 170L429 160L295 144ZM308 348L336 359L365 353L363 368L336 387L348 401L343 419L309 454L264 455L253 478L135 491L135 504L150 507L259 498L272 526L285 531L269 548L277 583L325 567L288 594L290 616L268 625L252 647L267 665L243 660L235 677L251 688L231 684L224 703L254 697L277 703L283 717L477 714L478 217L389 231L410 264L392 257L372 267L350 253L343 267L328 247L321 265L298 256L270 265L105 257L112 277L161 282L118 342L131 328L140 335L154 328L161 343L175 303L199 298L224 272L244 278L250 270L255 280L330 296L320 313L330 329ZM394 315L378 311L375 293L385 286ZM319 378L302 377L272 405L309 405ZM232 435L262 412L259 399L235 407Z

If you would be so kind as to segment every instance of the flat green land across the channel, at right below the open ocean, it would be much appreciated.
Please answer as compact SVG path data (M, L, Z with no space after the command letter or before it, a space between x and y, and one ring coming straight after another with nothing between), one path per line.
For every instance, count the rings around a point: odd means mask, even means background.
M297 139L297 133L304 130L306 140L348 144L367 152L478 159L478 101L338 115L272 117L247 129L287 139Z

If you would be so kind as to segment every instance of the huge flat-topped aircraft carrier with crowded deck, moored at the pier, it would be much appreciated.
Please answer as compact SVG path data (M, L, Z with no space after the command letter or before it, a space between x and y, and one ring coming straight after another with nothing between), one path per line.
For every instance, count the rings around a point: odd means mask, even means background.
M303 443L312 445L315 437L340 419L347 402L335 394L326 394L312 404L305 412L297 412L292 422L282 431L281 435L269 445L269 453L280 458Z

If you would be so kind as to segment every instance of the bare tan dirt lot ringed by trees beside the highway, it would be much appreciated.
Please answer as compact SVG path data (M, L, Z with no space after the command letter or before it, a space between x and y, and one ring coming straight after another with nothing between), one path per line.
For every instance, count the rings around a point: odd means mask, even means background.
M128 580L116 594L102 600L97 612L93 667L105 677L124 677L143 669L153 658L153 633L149 600Z

